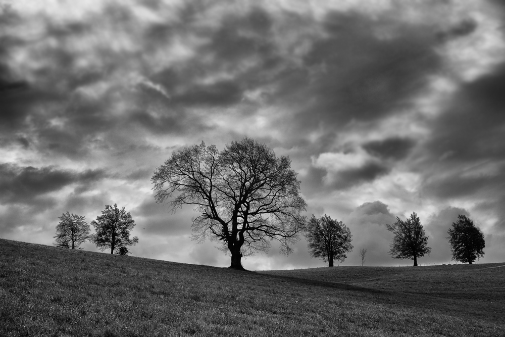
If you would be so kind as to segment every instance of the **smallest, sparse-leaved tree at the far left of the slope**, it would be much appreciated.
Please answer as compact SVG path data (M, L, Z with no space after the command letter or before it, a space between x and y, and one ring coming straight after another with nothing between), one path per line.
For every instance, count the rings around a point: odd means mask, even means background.
M89 238L89 224L81 215L62 213L56 225L55 246L69 249L77 249Z

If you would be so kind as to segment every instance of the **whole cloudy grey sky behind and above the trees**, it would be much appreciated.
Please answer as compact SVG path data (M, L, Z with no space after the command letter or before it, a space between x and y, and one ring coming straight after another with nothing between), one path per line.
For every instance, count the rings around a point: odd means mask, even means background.
M173 151L244 136L289 156L306 215L343 221L344 262L392 259L416 212L451 262L458 214L505 260L505 6L499 1L0 0L0 237L53 245L58 217L125 207L133 256L227 267L157 204ZM81 246L98 251L91 243ZM249 270L322 267L303 236Z

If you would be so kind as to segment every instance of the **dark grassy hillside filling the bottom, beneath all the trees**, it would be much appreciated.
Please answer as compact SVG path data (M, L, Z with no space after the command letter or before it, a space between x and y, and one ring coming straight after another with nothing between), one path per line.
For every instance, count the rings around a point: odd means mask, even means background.
M425 268L412 274L373 267L266 274L0 239L0 335L505 335L495 312L503 310L495 287L503 285L505 268L462 268L475 278L448 273L439 279L446 287L433 281L411 291L412 277L418 285L422 277L432 279L428 274L443 274ZM455 282L462 293L479 282L480 290L452 296ZM491 306L468 308L489 300L476 298L486 291L494 294Z

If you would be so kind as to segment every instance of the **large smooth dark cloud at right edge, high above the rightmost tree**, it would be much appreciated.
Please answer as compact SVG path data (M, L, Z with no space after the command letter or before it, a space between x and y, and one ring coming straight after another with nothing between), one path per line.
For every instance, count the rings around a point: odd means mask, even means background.
M447 163L505 159L503 87L505 64L462 85L451 106L433 121L431 155Z

